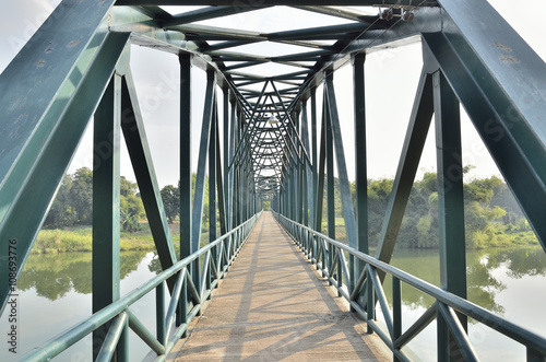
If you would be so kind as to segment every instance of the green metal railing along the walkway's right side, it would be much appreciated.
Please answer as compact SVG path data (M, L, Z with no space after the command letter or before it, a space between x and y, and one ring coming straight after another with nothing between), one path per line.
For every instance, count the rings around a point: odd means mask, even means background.
M465 361L478 361L467 334L460 323L461 317L471 317L522 343L526 348L527 361L545 360L546 339L544 337L508 322L467 300L446 292L391 265L296 223L280 213L273 213L305 256L316 265L323 277L328 278L331 285L337 289L339 295L344 296L352 310L366 320L368 331L377 332L391 349L395 360L410 361L410 357L402 351L402 348L430 323L438 319L444 320L448 325L452 336L450 348L454 348L456 343L461 357ZM361 262L361 270L355 273L357 276L355 280L351 280L346 255ZM389 275L392 278L392 308L389 307L381 275ZM402 283L406 283L436 300L404 332L402 332ZM379 302L384 325L379 324L376 318L377 302Z

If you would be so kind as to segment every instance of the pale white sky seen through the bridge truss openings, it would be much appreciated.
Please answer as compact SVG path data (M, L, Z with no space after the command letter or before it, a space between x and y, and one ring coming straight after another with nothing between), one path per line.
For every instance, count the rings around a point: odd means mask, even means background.
M536 11L542 9L541 0L525 1L524 5L513 7L513 0L490 0L489 3L514 27L520 35L546 59L546 23L544 15ZM59 0L0 0L4 4L0 13L0 71L16 55L25 42L45 21L59 3ZM190 10L191 7L186 7ZM533 11L535 10L535 11ZM177 11L174 10L174 13ZM244 13L209 24L224 27L245 27L260 32L273 32L306 26L344 23L341 19L328 19L322 15L290 11L286 8L271 9L262 16ZM418 16L418 12L416 12ZM327 23L331 22L331 23ZM244 24L244 25L241 25ZM285 49L275 48L278 51ZM252 49L256 50L256 49ZM258 49L260 51L260 49ZM266 51L265 49L262 49ZM269 49L268 49L269 50ZM276 50L275 50L276 51ZM177 185L178 182L178 86L179 70L177 58L173 55L133 46L131 49L131 68L135 79L139 102L143 113L150 148L154 159L159 186ZM422 68L420 43L415 42L403 47L372 52L366 61L366 107L367 107L367 153L368 177L393 177L404 140L410 113L413 105L418 77ZM151 66L153 65L153 66ZM271 69L274 72L275 69ZM192 69L192 149L193 168L197 167L197 149L201 130L205 74ZM348 165L349 179L354 173L354 125L353 125L353 90L352 67L340 69L334 75L343 140ZM320 98L321 87L317 94ZM218 106L222 109L222 97ZM463 164L475 168L467 177L488 177L499 175L495 163L488 155L471 121L462 112ZM222 121L221 121L222 124ZM434 125L434 122L432 122ZM88 127L80 150L73 159L69 172L79 167L92 167L92 127ZM129 159L123 150L121 174L134 179ZM434 126L419 165L420 177L424 172L436 171L436 150Z

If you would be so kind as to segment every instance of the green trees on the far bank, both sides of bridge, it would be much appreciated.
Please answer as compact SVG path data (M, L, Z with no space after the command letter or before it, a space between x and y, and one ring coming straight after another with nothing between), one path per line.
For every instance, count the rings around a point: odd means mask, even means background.
M466 167L467 172L471 167ZM370 245L377 245L394 180L368 179L368 218ZM195 175L193 175L195 185ZM209 183L205 182L203 227L209 223ZM343 217L339 179L335 178L335 215ZM178 185L177 185L178 186ZM161 190L169 223L179 217L179 186L167 185ZM397 245L410 248L438 247L438 189L436 173L425 173L414 183L404 214ZM140 230L139 220L145 218L136 184L121 177L120 223L123 231ZM355 183L351 184L356 203ZM68 174L47 215L46 229L63 229L92 223L93 172L86 167ZM324 192L325 194L325 192ZM324 197L325 206L325 197ZM327 218L323 208L323 220ZM512 192L499 177L472 178L464 184L464 219L466 246L530 245L538 241L529 225Z

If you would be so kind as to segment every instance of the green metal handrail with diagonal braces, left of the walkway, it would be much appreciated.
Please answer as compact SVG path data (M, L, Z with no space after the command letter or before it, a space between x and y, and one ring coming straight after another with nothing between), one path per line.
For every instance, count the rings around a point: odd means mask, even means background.
M218 283L218 280L223 278L224 273L227 271L228 266L232 265L234 259L237 257L237 255L240 252L240 248L245 245L248 235L250 232L253 230L256 226L256 223L260 219L262 212L256 213L253 217L251 217L249 220L240 224L239 226L233 229L228 233L222 235L221 237L216 238L214 242L209 243L204 247L200 248L198 252L191 254L190 256L183 258L182 260L178 261L170 268L164 270L156 277L152 278L144 284L138 287L133 291L129 292L127 295L119 299L118 301L111 303L110 305L106 306L105 308L98 311L97 313L93 314L90 316L87 319L76 324L72 328L61 332L60 335L51 338L47 342L43 343L39 347L34 348L32 351L29 351L27 354L25 354L21 360L24 361L46 361L49 360L57 354L61 353L66 349L68 349L70 346L74 345L85 336L90 335L93 332L95 329L99 328L104 324L108 323L109 320L112 320L117 317L115 320L119 320L118 323L111 323L110 328L108 331L109 338L105 341L105 343L108 345L103 345L103 349L111 350L112 348L115 349L116 346L111 345L117 345L117 341L119 340L119 336L122 332L123 328L120 328L119 324L120 323L128 323L129 327L133 329L133 331L146 343L151 347L152 350L154 350L158 357L156 361L163 361L165 358L168 355L170 350L175 347L176 341L180 338L180 336L183 335L183 332L188 329L189 324L193 319L193 317L198 314L198 312L202 307L203 301L205 301L212 290L216 287ZM217 260L212 260L211 258L211 250L213 248L219 248L222 245L224 245L224 241L227 241L229 244L233 242L233 246L228 245L227 249L227 255L229 258L226 259L226 254L225 253L218 253L218 260L222 260L222 262L216 262ZM224 246L225 247L225 246ZM233 252L233 253L232 253ZM211 265L207 266L207 273L206 278L202 279L202 285L199 285L199 288L194 287L191 284L191 272L190 266L194 260L199 260L199 258L205 255L209 256L209 260ZM211 269L216 268L215 271L211 271ZM205 266L203 266L203 270ZM218 270L219 269L219 270ZM199 272L199 270L197 271ZM166 282L167 279L173 277L174 275L179 273L180 276L180 282L177 281L177 291L185 291L186 287L188 288L188 291L194 296L193 300L193 305L192 308L188 311L187 314L187 319L186 323L180 324L176 330L169 336L168 334L166 335L165 341L161 341L158 339L163 339L159 336L156 336L155 338L153 337L153 334L150 332L143 325L142 323L136 319L136 317L131 313L129 310L129 306L131 306L133 303L142 299L144 295L146 295L149 292L151 292L153 289L161 290L162 292L164 291L164 283ZM218 276L215 278L214 276ZM206 280L211 280L210 284L206 283ZM178 285L180 284L180 285ZM206 285L206 287L205 287ZM193 290L193 292L192 292ZM202 290L203 293L201 295L194 295L194 293L198 290ZM185 301L186 296L181 296L179 293L174 293L171 295L171 301ZM195 302L195 300L199 302ZM170 304L170 303L169 303ZM173 304L178 304L174 302ZM158 307L156 303L156 308ZM163 307L163 306L161 306ZM167 315L163 315L162 320L166 320L168 324L168 330L171 329L171 320L174 319L174 314L176 312L175 307L169 307L169 311L167 312ZM163 314L163 313L162 313ZM112 342L115 341L115 342ZM163 352L163 353L162 353ZM108 353L109 354L109 353Z

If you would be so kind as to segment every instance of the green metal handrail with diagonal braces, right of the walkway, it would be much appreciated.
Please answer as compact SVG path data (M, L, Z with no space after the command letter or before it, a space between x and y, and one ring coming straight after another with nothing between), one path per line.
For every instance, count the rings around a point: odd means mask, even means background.
M276 217L280 224L284 227L284 230L293 237L295 243L302 248L306 257L311 259L313 264L317 265L317 269L320 269L321 272L328 277L330 282L339 290L340 294L343 295L351 304L351 306L365 320L368 322L369 326L378 334L381 339L385 342L385 345L393 351L393 353L399 359L408 360L408 358L401 351L402 347L406 345L410 340L412 340L416 335L418 335L425 327L434 320L434 317L430 317L430 311L436 310L436 318L441 315L446 318L446 322L450 328L450 331L455 336L455 340L461 348L462 352L468 360L473 360L475 353L467 338L461 335L461 330L459 328L459 319L454 318L455 314L453 311L462 313L473 319L499 331L500 334L524 345L527 348L527 357L531 359L531 355L534 353L538 353L541 357L546 357L546 338L530 331L512 322L506 320L491 312L468 302L465 299L462 299L458 295L449 293L436 285L432 285L415 276L412 276L403 270L400 270L389 264L380 261L369 255L366 255L361 252L358 252L347 245L344 245L335 240L328 237L321 233L316 232L314 230L299 224L275 211L273 214ZM346 272L343 272L343 277L337 273L335 276L335 269L340 270L340 266L335 266L335 262L339 262L337 258L332 258L332 265L322 265L320 261L321 255L328 255L330 252L328 250L327 245L323 243L328 243L336 248L334 250L334 255L340 254L340 250L346 252L354 257L363 260L365 262L365 268L359 276L355 275L356 282L352 283L349 280L349 276ZM341 253L343 254L343 253ZM323 257L322 260L328 260L330 258ZM390 311L385 307L387 300L384 299L384 292L379 278L377 278L376 270L381 270L385 273L389 273L393 277L393 280L402 281L408 285L416 288L417 290L432 296L436 299L436 303L425 312L422 318L419 318L413 326L411 326L405 334L402 336L394 336L393 329L396 329L396 325L400 326L401 320L396 320L390 315ZM346 283L343 282L345 279ZM373 322L372 318L368 318L367 312L365 308L369 311L368 305L360 305L358 303L358 296L364 291L369 291L367 289L368 280L371 281L372 288L378 291L376 293L376 299L381 304L381 310L383 314L385 314L385 323L387 323L387 331L384 328L380 328L379 325ZM399 288L400 288L400 283ZM349 290L351 285L355 285L354 290ZM394 283L393 283L394 285ZM368 299L369 300L369 299ZM365 299L366 301L366 299ZM401 301L397 301L401 303ZM372 303L373 304L373 303ZM372 306L375 308L375 305ZM396 308L400 306L393 306ZM375 315L375 312L372 312ZM461 346L462 345L462 346Z

